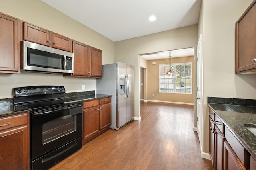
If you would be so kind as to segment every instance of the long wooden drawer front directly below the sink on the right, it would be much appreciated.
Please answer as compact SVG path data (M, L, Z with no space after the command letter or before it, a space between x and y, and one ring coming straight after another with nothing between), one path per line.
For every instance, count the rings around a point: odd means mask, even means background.
M236 137L230 132L230 130L225 127L225 138L229 145L232 147L238 158L241 160L245 167L248 167L248 162L250 162L250 154L242 144L236 139Z

